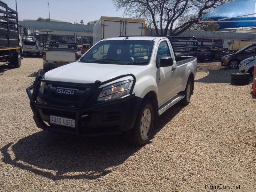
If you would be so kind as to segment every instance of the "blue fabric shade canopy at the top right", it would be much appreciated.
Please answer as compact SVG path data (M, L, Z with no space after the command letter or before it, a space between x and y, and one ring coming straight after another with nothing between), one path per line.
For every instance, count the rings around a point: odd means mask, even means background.
M202 21L210 18L214 21ZM199 22L217 22L219 29L256 26L256 0L237 0L221 5L200 17Z

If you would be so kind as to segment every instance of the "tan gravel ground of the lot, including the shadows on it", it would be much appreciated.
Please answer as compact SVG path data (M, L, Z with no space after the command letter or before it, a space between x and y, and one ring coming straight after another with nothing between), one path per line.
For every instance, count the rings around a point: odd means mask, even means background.
M0 191L256 191L256 98L252 84L230 84L236 69L198 63L191 103L134 147L38 129L25 89L42 66L30 57L0 67Z

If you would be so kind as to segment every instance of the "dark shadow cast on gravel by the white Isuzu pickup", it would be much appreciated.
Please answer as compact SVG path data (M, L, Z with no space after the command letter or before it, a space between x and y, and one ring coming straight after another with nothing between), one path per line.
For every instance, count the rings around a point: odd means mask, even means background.
M184 106L175 105L159 117L153 135ZM122 135L77 137L41 131L8 143L0 149L3 162L51 180L97 179L123 164L141 147L128 144Z

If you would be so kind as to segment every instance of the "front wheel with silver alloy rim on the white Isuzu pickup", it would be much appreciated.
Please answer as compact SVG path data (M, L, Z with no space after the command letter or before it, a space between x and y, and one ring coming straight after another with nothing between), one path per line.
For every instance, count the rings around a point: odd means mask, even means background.
M154 122L154 110L149 100L142 101L134 126L124 132L128 142L134 145L144 145L148 142Z

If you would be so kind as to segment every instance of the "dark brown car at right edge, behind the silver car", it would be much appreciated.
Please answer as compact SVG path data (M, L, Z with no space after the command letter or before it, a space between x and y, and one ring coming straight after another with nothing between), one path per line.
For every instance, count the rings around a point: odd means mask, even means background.
M255 55L256 55L256 43L250 44L244 47L243 49L240 49L236 53L232 53L222 57L220 60L220 65L225 67L230 67L230 68L237 68L240 61Z

